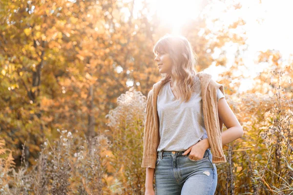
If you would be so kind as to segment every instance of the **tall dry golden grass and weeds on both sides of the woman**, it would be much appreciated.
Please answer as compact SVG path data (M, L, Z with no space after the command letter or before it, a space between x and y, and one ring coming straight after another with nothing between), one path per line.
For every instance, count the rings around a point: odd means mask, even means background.
M281 87L275 95L243 94L226 99L244 129L224 146L227 163L216 164L216 195L293 195L293 99ZM16 171L11 151L0 141L3 195L141 195L145 192L143 152L146 97L131 88L106 116L109 129L89 140L60 131L42 146L28 172Z

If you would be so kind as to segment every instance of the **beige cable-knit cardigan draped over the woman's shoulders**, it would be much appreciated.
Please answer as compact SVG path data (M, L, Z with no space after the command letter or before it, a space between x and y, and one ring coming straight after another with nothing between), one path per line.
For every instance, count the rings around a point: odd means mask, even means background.
M212 163L227 162L222 149L223 122L218 116L217 89L224 93L222 84L217 83L208 73L198 72L196 77L200 78L201 95L203 101L203 114L205 128L208 135ZM157 113L157 95L162 87L162 81L158 81L147 94L146 100L146 123L144 129L144 153L141 167L155 168L157 159L157 148L160 143L159 116Z

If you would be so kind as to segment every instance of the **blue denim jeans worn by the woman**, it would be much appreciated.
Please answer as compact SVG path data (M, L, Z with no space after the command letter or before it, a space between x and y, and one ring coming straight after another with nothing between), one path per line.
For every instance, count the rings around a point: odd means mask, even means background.
M217 168L207 149L202 159L191 160L182 152L158 152L155 169L156 195L214 195Z

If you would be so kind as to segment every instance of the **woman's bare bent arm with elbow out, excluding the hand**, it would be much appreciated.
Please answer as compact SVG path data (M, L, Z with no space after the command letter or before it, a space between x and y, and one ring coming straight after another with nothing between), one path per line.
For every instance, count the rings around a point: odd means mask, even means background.
M227 130L223 131L221 134L222 145L226 145L243 136L243 129L225 98L220 98L218 101L218 115L227 127ZM207 149L210 148L208 138L202 141Z

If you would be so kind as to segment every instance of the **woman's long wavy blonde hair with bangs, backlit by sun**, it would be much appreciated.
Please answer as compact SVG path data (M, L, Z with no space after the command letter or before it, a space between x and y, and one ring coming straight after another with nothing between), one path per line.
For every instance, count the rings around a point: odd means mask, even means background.
M197 73L195 66L198 65L198 57L188 39L182 35L166 34L157 41L153 52L155 55L158 52L165 52L170 55L171 72L175 77L175 80L173 80L174 91L178 94L176 99L181 99L181 102L188 102L196 84L194 83L194 76ZM163 85L171 80L171 76L167 73L160 75Z

